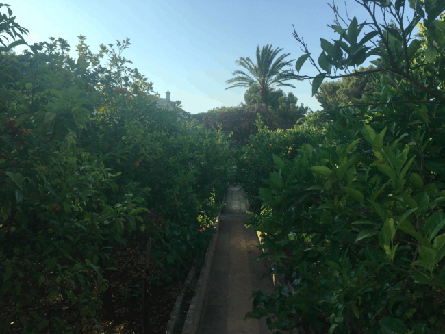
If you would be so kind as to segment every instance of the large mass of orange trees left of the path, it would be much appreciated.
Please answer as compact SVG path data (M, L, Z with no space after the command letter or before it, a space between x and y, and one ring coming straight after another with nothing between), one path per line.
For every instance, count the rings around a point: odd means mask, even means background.
M84 39L76 61L52 38L0 55L2 333L79 331L31 305L61 296L94 319L127 233L152 237L155 265L171 269L153 283L175 280L205 253L212 230L196 224L216 215L233 166L224 133L156 107L153 83L120 55L128 40L93 54Z

